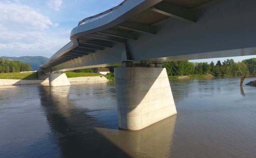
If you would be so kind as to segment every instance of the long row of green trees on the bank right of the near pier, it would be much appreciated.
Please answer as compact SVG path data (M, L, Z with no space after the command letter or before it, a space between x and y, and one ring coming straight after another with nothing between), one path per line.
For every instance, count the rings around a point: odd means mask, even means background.
M242 76L242 75L255 75L256 74L256 58L246 59L242 62L234 62L233 59L221 61L218 60L217 64L211 62L204 63L191 63L185 61L172 61L163 63L169 76L183 76L183 75L205 75L212 73L214 76Z

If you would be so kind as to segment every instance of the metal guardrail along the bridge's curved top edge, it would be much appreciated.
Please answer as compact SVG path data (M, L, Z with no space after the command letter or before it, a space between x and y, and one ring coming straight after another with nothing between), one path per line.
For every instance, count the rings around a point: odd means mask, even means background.
M100 19L100 18L102 18L102 17L104 17L104 16L106 16L106 15L111 14L111 13L112 13L113 11L115 11L117 8L119 8L120 6L122 6L126 1L128 1L128 0L124 0L124 1L123 1L122 3L120 3L118 6L113 7L113 8L111 8L111 9L107 10L107 11L104 11L104 12L99 13L99 14L97 14L97 15L93 15L93 16L90 16L90 17L88 17L88 18L85 18L85 19L81 20L81 21L78 23L78 26L79 26L79 25L82 25L82 24L86 24L86 23L92 22L92 21L94 21L94 20Z

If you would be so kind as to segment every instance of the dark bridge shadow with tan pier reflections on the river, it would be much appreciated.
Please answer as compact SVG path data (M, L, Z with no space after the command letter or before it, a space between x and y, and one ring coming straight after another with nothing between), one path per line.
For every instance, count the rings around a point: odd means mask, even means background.
M63 157L168 157L176 115L139 131L106 128L69 99L70 86L38 86L52 140ZM112 91L112 90L111 90ZM154 144L154 145L152 145Z

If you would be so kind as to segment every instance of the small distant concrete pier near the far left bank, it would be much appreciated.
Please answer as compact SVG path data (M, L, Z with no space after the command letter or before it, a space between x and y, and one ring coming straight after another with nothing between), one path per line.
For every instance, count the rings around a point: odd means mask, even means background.
M70 86L70 82L65 73L48 73L49 85L54 86Z

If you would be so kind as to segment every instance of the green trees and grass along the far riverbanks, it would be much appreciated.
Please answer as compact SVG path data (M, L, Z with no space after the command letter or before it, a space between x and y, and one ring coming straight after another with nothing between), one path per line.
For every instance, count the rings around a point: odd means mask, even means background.
M107 80L115 80L114 67L109 68L111 73L102 75L97 72L97 68L86 68L65 72L68 78L74 77L97 77L101 76ZM196 77L236 77L242 75L256 74L256 58L245 59L242 62L235 62L233 59L227 59L223 62L218 61L217 64L211 62L192 63L185 61L164 62L163 67L166 68L169 78L196 78ZM11 61L0 58L0 79L15 80L39 80L37 72L20 73L22 71L30 71L29 63L20 61ZM80 80L82 80L80 78ZM79 81L80 81L79 80ZM88 79L87 79L88 80ZM3 82L3 81L2 81ZM27 82L25 82L27 83ZM37 82L35 82L37 83Z

